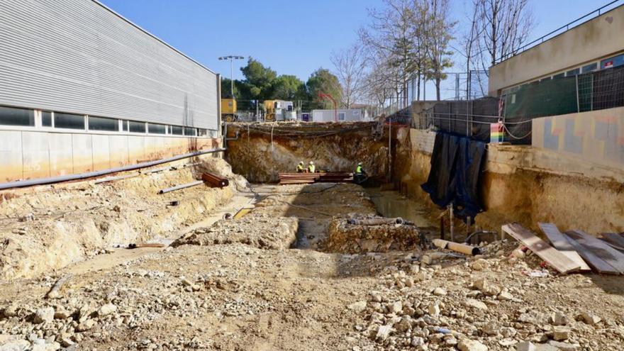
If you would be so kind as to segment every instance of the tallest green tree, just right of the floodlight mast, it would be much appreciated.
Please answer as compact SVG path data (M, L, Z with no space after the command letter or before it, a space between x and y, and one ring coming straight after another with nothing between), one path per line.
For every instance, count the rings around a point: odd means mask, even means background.
M240 69L245 76L243 83L246 87L241 87L241 92L248 94L243 95L243 99L271 99L273 95L273 82L277 78L277 72L271 67L264 67L262 63L249 58L247 65Z

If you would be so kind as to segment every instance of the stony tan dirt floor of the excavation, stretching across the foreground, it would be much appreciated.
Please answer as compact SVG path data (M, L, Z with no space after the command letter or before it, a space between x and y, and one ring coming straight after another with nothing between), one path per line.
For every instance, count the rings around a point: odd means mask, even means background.
M250 196L251 213L217 220ZM621 277L559 277L515 241L483 243L481 257L323 252L330 220L375 213L353 184L232 201L171 247L1 282L0 350L621 350Z

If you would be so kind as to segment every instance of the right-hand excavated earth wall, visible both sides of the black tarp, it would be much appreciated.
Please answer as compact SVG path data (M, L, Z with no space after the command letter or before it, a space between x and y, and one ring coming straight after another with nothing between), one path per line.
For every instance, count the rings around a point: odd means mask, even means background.
M431 204L420 184L429 174L435 133L403 128L398 136L396 183ZM537 230L537 222L549 221L560 230L624 231L623 169L537 147L489 145L481 189L481 228L516 221Z

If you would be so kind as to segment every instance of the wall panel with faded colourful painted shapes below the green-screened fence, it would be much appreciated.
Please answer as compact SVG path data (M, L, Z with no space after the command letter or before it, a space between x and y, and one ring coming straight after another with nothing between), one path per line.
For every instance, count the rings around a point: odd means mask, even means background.
M536 118L532 145L624 169L624 107Z

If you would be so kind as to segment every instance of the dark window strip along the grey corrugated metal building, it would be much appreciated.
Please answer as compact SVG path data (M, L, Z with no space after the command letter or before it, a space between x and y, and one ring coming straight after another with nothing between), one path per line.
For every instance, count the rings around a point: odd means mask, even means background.
M149 133L164 135L206 136L204 128L168 126L160 123L128 121L117 118L85 116L73 113L29 110L0 106L0 126L47 127L105 132Z

